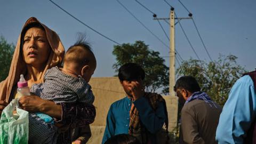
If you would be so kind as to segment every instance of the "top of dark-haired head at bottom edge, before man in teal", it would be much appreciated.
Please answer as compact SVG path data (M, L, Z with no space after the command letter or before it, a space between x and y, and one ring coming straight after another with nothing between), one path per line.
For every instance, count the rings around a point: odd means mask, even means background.
M140 144L140 141L129 134L117 134L109 138L104 144Z

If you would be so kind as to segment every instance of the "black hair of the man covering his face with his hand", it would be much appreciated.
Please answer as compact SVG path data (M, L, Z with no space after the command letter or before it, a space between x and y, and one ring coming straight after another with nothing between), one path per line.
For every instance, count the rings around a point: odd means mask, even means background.
M126 63L118 70L120 81L131 81L133 79L144 79L145 71L137 63Z

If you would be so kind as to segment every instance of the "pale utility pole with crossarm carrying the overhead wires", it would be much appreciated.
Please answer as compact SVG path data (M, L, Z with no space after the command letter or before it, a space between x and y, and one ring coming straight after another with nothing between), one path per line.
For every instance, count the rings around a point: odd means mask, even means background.
M175 93L173 91L173 86L175 85L175 25L182 19L191 19L191 16L192 14L189 15L189 18L175 18L173 7L171 7L169 18L157 18L157 15L153 15L154 20L170 20L169 96L165 99L169 117L169 132L174 132L175 128L177 127L178 119L178 98L175 97ZM176 23L175 20L177 20Z

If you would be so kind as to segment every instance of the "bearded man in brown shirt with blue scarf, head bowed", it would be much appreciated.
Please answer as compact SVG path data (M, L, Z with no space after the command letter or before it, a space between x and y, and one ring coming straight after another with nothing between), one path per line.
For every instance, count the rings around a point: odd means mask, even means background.
M201 89L192 76L180 77L174 91L181 110L180 143L217 143L215 132L219 122L221 107Z

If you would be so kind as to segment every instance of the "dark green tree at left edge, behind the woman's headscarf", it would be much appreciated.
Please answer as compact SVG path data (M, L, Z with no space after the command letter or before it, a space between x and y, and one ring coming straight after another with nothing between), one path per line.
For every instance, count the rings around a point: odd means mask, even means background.
M0 37L0 82L9 74L9 69L14 52L14 44L9 44L3 36Z

